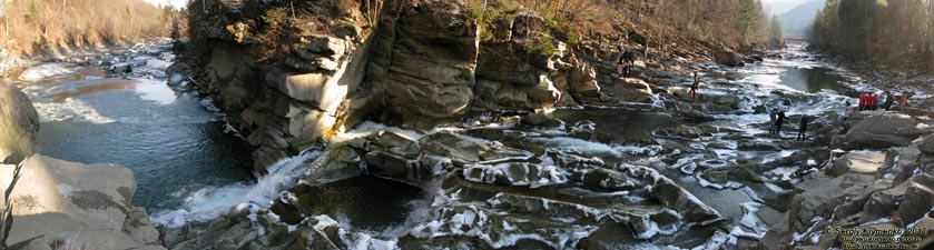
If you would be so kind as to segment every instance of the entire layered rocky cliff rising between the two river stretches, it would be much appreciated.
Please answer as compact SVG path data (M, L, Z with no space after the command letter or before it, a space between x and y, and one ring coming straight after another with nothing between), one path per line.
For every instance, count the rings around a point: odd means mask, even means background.
M508 26L497 32L505 36L482 41L482 28L455 2L386 1L382 9L340 2L291 7L285 23L269 21L285 10L275 3L206 1L218 10L193 16L193 42L206 48L189 58L197 88L256 148L257 170L370 114L431 124L472 111L542 111L573 104L574 96L599 97L591 62L542 37L539 18L502 20ZM331 29L302 24L308 20ZM535 39L557 49L535 56L523 47Z

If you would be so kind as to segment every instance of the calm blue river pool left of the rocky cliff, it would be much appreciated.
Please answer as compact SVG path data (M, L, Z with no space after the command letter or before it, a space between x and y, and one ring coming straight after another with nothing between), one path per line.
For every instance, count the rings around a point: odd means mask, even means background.
M23 83L42 123L40 153L134 170L134 203L175 209L198 190L249 181L249 149L222 117L165 81L108 79L100 71Z

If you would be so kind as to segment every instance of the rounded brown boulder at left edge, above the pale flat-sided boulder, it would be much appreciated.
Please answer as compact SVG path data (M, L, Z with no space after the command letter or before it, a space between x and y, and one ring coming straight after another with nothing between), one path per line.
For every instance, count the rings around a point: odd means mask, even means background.
M39 113L26 94L0 83L0 163L17 163L32 154Z

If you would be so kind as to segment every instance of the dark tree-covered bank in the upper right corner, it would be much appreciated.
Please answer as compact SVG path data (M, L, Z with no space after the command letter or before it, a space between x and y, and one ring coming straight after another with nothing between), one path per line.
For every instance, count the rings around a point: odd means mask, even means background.
M934 0L827 0L810 49L851 61L934 69Z

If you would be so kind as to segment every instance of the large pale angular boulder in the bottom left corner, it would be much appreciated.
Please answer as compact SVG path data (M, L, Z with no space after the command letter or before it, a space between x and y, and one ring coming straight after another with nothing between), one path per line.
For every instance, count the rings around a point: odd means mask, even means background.
M10 192L7 246L23 249L164 249L146 210L134 207L136 179L116 164L81 164L36 154L0 166L0 191ZM11 182L14 182L11 184ZM0 201L0 207L7 201Z

